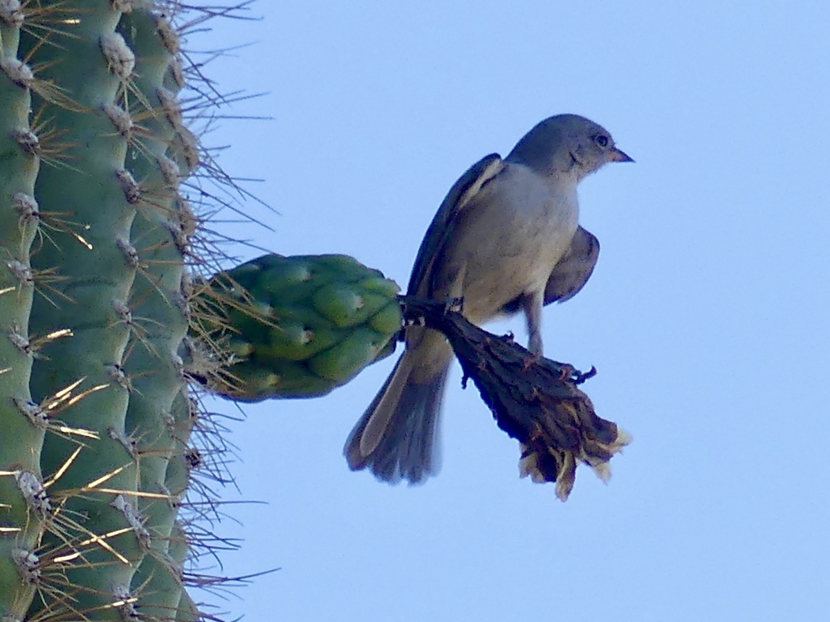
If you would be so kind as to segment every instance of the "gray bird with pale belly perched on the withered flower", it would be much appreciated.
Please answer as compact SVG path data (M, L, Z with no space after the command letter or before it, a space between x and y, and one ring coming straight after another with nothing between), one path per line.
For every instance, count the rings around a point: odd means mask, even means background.
M542 306L579 292L597 261L597 238L579 226L577 186L608 162L633 160L608 131L576 114L544 119L507 158L482 158L432 219L407 294L461 298L476 324L524 311L528 347L541 354ZM403 356L346 441L349 468L410 484L435 473L452 356L441 333L407 328Z

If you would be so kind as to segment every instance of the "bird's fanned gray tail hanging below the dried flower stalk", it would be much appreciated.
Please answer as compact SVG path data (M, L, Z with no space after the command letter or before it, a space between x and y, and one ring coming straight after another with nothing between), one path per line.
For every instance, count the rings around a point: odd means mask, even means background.
M422 368L413 373L420 364L418 358L417 350L403 352L354 426L344 448L353 471L369 469L383 481L407 479L410 484L437 472L438 417L452 352L428 377L422 377Z

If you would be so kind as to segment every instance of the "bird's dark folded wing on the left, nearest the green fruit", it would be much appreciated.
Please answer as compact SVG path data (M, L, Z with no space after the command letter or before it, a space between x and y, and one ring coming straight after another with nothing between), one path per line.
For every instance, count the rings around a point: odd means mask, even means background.
M467 172L461 175L450 188L447 197L438 208L437 214L423 236L421 248L417 251L417 259L413 266L413 273L409 277L407 293L410 295L427 295L422 291L428 282L428 275L432 271L432 263L441 253L447 239L452 236L453 226L458 220L458 214L471 203L471 198L490 182L493 177L505 167L504 161L498 153L491 153L473 164Z

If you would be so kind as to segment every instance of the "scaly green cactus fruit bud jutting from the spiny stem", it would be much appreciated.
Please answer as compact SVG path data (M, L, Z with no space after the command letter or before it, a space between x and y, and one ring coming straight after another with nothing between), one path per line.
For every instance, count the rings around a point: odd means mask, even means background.
M212 388L240 401L314 397L393 351L398 284L348 255L265 255L212 279L225 321L205 331L236 358Z

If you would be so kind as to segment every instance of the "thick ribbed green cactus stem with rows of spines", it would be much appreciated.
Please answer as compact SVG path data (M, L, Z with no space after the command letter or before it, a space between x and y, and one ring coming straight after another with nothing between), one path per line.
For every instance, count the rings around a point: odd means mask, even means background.
M204 617L181 8L0 0L2 622Z

